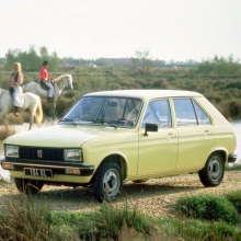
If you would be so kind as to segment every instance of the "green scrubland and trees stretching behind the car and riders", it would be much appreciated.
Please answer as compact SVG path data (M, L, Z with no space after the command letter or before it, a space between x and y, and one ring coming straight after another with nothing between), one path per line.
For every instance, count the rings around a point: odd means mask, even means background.
M24 71L24 83L39 81L38 71L43 60L47 59L49 73L57 78L62 73L71 73L73 88L65 92L57 103L57 115L61 116L82 94L93 91L120 89L177 89L197 91L204 94L227 118L241 118L241 64L233 56L228 58L215 56L191 67L154 66L149 51L138 51L128 59L128 65L112 65L103 61L103 66L92 60L58 58L57 53L49 54L46 47L41 54L31 47L28 51L8 50L0 68L0 87L9 85L9 71L12 65L20 61ZM2 59L1 59L2 60ZM104 59L99 59L99 61ZM110 59L108 59L110 60ZM123 60L123 59L120 59ZM124 59L126 60L126 59ZM111 60L110 60L111 61ZM97 68L92 68L96 65ZM47 105L43 103L44 108ZM47 112L46 110L44 110Z

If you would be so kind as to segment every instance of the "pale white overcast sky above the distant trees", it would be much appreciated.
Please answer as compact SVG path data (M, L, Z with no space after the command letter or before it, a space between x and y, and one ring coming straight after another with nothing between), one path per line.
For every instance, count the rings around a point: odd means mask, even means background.
M241 59L241 0L0 0L0 57L43 46L74 59Z

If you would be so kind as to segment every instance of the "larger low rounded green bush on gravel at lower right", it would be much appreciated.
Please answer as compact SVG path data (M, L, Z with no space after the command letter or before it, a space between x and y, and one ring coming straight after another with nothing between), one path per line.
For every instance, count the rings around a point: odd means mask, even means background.
M234 206L222 196L198 195L182 197L176 202L176 209L187 217L209 221L237 223L238 213Z

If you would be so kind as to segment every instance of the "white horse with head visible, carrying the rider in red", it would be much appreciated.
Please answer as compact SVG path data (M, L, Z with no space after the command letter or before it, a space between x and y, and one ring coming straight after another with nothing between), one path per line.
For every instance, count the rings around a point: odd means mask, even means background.
M71 89L71 90L73 89L72 76L71 74L62 74L62 76L54 79L53 84L54 84L55 91L54 91L54 102L50 103L51 104L50 105L50 115L51 115L51 118L54 119L56 117L55 110L56 110L57 99L61 95L65 88ZM47 96L48 96L48 90L44 89L39 82L37 83L37 82L32 81L32 82L23 85L22 88L23 88L23 92L35 93L42 99L47 99Z

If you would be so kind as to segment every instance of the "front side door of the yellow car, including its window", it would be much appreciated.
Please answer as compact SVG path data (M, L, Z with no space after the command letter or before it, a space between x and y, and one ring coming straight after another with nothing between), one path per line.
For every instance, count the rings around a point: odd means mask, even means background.
M138 174L158 174L175 169L177 153L176 130L172 127L168 99L153 100L147 105L141 129L146 123L157 124L158 131L139 131Z

